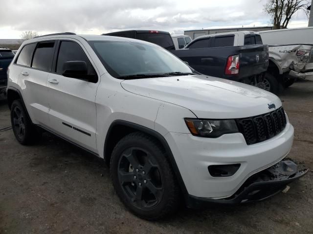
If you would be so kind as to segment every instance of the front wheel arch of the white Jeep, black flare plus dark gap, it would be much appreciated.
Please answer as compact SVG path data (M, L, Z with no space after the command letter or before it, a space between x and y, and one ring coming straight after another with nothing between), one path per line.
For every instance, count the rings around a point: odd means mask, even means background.
M113 148L116 145L116 143L121 138L125 137L126 135L128 135L132 132L142 132L144 134L149 135L150 137L155 138L160 143L160 145L162 146L162 149L164 150L164 152L168 156L171 167L172 167L174 174L177 178L177 181L179 183L179 188L186 198L188 195L188 192L187 192L186 186L183 182L183 179L180 175L179 168L176 164L173 153L172 153L166 139L161 134L156 132L155 130L152 130L152 129L147 128L145 126L142 126L142 125L139 125L136 123L132 123L129 121L125 121L125 120L114 120L109 127L109 130L108 130L108 133L107 133L107 136L105 139L105 143L104 143L104 159L105 159L106 164L108 166L110 166L109 164L110 164L112 151L113 151Z

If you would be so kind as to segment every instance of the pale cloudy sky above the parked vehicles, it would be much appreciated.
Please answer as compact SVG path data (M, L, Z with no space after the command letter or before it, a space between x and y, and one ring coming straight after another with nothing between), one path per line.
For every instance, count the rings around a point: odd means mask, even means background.
M268 26L267 0L0 0L0 39L24 31L102 34L154 29L172 34L220 27ZM299 12L289 27L306 27Z

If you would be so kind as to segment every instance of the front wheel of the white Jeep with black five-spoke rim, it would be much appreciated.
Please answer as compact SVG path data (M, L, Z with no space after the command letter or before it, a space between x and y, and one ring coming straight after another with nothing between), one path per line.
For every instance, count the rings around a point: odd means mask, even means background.
M136 132L114 147L110 174L123 204L140 218L156 220L179 207L179 186L158 142Z

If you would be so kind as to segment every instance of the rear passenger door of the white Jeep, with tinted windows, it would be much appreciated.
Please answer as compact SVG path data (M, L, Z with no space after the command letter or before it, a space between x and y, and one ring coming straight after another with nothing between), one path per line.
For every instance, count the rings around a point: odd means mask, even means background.
M35 124L48 126L48 95L46 81L51 72L56 41L25 45L16 61L21 65L19 85L27 111Z

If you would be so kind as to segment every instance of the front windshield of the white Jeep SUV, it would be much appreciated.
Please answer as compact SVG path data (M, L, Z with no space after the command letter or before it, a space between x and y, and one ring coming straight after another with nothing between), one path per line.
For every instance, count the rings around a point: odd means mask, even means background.
M115 78L193 74L189 66L157 45L133 41L89 41L89 44Z

